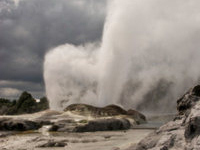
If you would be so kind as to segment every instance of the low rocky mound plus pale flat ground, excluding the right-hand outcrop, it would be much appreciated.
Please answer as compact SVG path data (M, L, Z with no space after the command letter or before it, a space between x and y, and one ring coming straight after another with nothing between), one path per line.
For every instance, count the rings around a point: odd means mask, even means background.
M74 104L63 112L0 116L0 149L125 149L152 132L130 129L145 122L141 113L116 105Z

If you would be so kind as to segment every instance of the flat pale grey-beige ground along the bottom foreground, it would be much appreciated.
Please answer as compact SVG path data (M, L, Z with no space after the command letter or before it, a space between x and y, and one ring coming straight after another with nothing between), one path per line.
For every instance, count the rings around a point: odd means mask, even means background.
M29 133L23 132L0 138L1 150L123 150L138 143L153 130L132 129L127 131L91 132L91 133ZM38 148L48 141L67 143L60 148Z

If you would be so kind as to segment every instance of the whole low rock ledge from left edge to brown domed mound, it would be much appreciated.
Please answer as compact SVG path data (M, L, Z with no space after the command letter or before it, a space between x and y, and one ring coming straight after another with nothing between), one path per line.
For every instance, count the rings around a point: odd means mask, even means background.
M132 125L145 123L143 114L135 110L124 110L117 105L103 108L86 104L72 104L64 112L47 110L35 114L1 116L3 131L57 131L94 132L126 130Z

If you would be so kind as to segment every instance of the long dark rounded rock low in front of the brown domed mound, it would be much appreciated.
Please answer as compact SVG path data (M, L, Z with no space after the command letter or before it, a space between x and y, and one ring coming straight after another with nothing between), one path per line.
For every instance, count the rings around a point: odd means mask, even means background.
M86 125L77 126L74 132L127 130L130 127L130 122L126 119L99 119L89 121Z

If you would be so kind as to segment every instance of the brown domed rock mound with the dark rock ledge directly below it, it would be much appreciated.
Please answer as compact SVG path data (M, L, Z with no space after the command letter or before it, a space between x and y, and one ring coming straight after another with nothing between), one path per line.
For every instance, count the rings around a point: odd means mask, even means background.
M146 122L146 117L135 110L124 110L117 105L95 107L87 104L72 104L65 112L82 117L79 122L55 122L49 131L62 132L94 132L110 130L126 130L132 125ZM90 116L88 119L88 116ZM92 117L92 119L91 119Z

